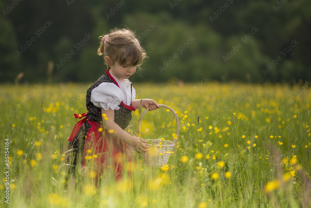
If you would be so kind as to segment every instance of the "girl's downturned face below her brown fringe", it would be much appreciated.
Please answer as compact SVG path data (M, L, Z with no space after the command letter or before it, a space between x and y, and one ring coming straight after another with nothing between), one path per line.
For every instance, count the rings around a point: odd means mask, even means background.
M136 67L137 66L132 66L129 64L119 65L119 63L115 62L114 65L110 65L110 73L114 75L114 77L116 77L119 81L125 82L124 79L128 79L135 73Z

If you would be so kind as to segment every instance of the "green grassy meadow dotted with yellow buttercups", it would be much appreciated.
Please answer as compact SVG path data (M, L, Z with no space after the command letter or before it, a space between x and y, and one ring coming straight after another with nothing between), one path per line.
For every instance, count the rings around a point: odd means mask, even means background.
M78 121L73 114L86 112L89 86L0 85L1 207L310 207L309 83L133 83L137 99L175 110L177 145L168 165L148 167L135 153L124 162L123 179L115 181L106 167L97 187L96 155L75 178L65 166L67 138ZM132 113L136 133L143 110ZM164 108L147 112L142 138L172 140L172 115Z

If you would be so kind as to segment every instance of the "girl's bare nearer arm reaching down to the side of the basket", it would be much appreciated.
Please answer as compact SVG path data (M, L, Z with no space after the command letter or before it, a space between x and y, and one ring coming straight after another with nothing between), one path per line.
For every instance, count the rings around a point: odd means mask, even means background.
M114 123L114 110L105 110L101 108L101 113L106 114L108 120L103 119L103 124L106 130L113 129L116 137L121 139L123 142L128 143L136 152L142 153L148 151L148 146L144 143L147 141L142 138L133 137L126 133L118 124Z

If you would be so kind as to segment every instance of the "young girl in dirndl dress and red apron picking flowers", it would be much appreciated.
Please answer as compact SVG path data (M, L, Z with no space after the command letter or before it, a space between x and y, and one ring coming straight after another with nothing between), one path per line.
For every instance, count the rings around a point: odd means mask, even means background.
M84 166L92 158L99 172L105 166L113 166L115 176L119 177L120 158L123 160L127 151L125 143L139 153L148 151L145 140L124 131L132 119L132 111L141 106L152 111L159 106L152 99L135 100L135 89L128 80L146 57L135 34L128 29L115 29L100 38L97 54L104 56L108 69L87 90L88 112L75 114L76 118L85 118L75 125L68 138L72 157L68 157L67 163L74 168L77 163Z

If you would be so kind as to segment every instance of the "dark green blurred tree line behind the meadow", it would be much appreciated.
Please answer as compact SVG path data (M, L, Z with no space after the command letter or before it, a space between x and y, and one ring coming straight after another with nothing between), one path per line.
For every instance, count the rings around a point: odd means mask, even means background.
M0 0L0 81L90 82L98 36L136 32L149 56L131 81L272 82L311 77L311 2ZM285 51L284 51L285 50Z

